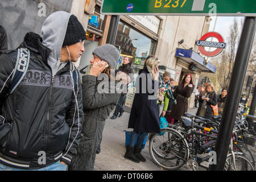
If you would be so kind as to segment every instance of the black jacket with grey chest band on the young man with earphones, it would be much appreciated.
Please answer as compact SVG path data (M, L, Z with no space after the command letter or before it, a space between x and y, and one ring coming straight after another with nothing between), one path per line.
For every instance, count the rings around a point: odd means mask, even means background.
M11 125L0 148L0 163L19 168L42 168L57 160L69 164L80 141L83 117L80 77L79 90L75 88L78 115L69 64L53 77L47 64L50 50L32 32L26 34L20 47L30 49L30 64L22 82L9 96L17 50L0 56L1 111ZM39 164L40 151L46 154L46 164Z

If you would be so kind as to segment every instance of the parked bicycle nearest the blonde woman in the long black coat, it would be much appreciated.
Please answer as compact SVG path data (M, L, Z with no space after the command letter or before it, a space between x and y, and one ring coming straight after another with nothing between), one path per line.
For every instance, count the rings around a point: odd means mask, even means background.
M187 116L193 116L188 113L186 114ZM168 125L167 128L160 130L160 133L164 132L164 135L151 135L149 148L150 156L158 166L168 170L176 170L182 167L185 163L188 163L188 166L195 170L198 169L198 164L196 162L196 160L198 160L200 161L200 164L202 164L202 167L205 167L204 162L208 161L211 156L207 156L206 158L196 156L195 146L196 144L200 144L200 146L204 148L202 151L209 152L207 148L214 143L214 141L210 142L210 140L217 139L216 133L218 131L194 125L194 120L195 118L192 118L192 133L189 133L193 136L191 140L187 140L187 129L171 124ZM194 129L212 131L212 134L199 133ZM200 138L200 140L199 138L195 138L195 134L205 138ZM205 143L206 140L208 140L208 143Z

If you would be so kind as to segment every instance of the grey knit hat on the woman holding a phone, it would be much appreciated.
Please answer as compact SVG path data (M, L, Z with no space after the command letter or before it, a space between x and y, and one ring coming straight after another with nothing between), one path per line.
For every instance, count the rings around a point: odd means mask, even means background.
M108 64L115 68L119 60L119 51L112 44L105 44L94 49L93 54L100 57L100 59L108 62Z

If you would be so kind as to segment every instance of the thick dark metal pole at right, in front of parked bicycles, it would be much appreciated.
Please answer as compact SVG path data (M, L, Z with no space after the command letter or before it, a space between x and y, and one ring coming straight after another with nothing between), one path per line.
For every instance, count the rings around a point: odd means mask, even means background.
M243 30L237 49L236 60L234 61L234 74L232 74L230 80L228 96L226 98L226 104L224 106L220 130L218 131L218 137L215 146L217 164L212 164L209 167L210 171L222 171L225 166L230 139L232 137L234 121L237 115L237 108L242 93L241 83L243 83L245 80L251 47L253 45L255 23L255 17L246 17L243 24Z

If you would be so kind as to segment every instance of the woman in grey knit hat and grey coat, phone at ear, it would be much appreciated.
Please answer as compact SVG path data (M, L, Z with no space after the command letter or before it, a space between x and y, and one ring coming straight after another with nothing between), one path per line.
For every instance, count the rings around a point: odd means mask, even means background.
M117 93L115 75L110 75L119 60L119 51L111 44L99 46L93 51L90 69L82 76L82 104L84 119L82 121L81 141L77 155L70 170L92 171L96 150L101 142L105 119L117 105L120 93ZM102 74L105 73L105 74ZM122 73L118 72L117 74ZM114 82L114 87L110 82ZM108 86L106 86L108 85Z

